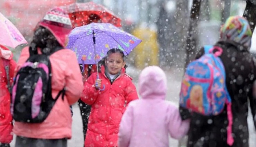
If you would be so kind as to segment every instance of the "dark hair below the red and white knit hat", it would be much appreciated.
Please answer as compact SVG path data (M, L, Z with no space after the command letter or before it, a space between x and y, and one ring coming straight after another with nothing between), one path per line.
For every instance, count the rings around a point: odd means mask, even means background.
M61 47L61 45L51 31L45 27L39 26L34 31L33 39L29 45L29 48L33 51L36 51L38 47L42 50L42 53L47 54L50 53L52 49Z

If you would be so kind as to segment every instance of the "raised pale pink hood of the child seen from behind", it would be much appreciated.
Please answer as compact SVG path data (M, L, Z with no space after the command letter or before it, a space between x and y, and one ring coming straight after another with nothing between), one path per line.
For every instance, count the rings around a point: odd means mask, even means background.
M165 99L167 80L158 66L148 66L139 75L139 94L143 99Z

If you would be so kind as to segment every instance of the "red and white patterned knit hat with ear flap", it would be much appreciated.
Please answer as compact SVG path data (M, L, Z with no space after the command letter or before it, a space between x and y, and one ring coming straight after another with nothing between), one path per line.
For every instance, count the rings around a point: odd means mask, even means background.
M68 40L68 35L72 30L71 20L68 14L61 8L53 8L46 12L43 20L41 20L38 26L45 27L55 36L57 41L65 47Z

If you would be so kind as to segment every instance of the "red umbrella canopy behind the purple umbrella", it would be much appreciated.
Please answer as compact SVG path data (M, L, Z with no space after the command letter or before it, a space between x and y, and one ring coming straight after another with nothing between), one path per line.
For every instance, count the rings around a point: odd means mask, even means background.
M73 28L98 21L121 27L121 19L101 4L94 2L72 3L60 8L69 14Z

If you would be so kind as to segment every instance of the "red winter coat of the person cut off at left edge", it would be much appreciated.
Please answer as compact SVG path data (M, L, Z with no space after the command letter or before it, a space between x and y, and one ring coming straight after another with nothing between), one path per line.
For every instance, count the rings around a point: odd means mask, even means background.
M9 81L13 82L13 72L16 67L11 51L0 45L0 143L9 144L12 141L12 116L10 112L11 97L7 88L7 77L3 60L9 62ZM2 53L2 50L3 53Z

